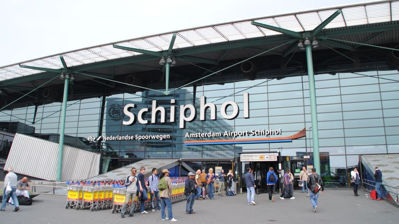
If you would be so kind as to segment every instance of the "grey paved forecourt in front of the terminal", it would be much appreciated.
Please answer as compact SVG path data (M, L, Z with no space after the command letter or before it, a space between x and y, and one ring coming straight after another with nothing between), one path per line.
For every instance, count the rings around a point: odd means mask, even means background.
M372 201L365 192L354 197L349 189L327 189L320 195L319 211L313 213L309 198L295 192L295 200L280 200L272 203L266 194L256 195L256 206L246 203L246 195L216 197L215 200L196 201L197 214L186 215L185 202L173 205L173 214L178 223L397 223L399 208L385 201ZM275 195L277 196L277 195ZM20 212L0 212L1 223L162 223L160 212L150 212L122 219L110 210L90 212L88 210L66 210L65 197L41 195L33 206L21 206ZM166 222L166 221L164 221Z

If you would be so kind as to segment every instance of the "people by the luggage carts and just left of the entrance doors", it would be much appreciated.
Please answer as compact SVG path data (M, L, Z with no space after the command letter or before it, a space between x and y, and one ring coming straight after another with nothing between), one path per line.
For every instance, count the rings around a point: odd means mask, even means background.
M142 214L147 214L145 210L144 202L148 200L147 192L150 192L150 201L152 211L161 210L161 219L170 220L172 222L177 221L173 217L172 211L172 201L170 199L172 195L172 182L169 178L169 171L163 169L160 176L158 176L158 171L156 168L152 169L151 176L148 177L148 181L145 181L144 173L145 167L140 168L139 174L137 174L137 169L133 167L131 169L131 174L126 177L126 200L122 207L121 217L124 218L127 214L127 205L129 200L133 200L137 195L140 202L140 212ZM218 193L223 193L224 191L233 192L231 194L235 195L234 191L234 175L232 170L229 173L224 174L224 170L221 170L219 174L215 174L213 168L208 170L198 170L196 173L189 172L188 178L185 182L184 194L187 198L186 213L195 214L193 210L194 201L197 199L214 199L215 192L215 181L219 181ZM134 216L136 210L135 203L132 203L129 216ZM168 216L166 217L166 210L168 210Z

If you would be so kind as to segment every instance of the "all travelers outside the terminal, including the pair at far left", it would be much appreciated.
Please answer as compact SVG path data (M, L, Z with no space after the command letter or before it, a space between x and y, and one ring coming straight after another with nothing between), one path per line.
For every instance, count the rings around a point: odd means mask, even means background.
M172 182L169 177L169 170L163 169L159 175L158 170L153 168L151 175L147 179L144 177L145 171L145 167L141 167L139 172L133 167L131 169L131 174L126 177L125 186L127 200L125 200L126 202L122 207L121 217L124 218L127 214L129 216L134 216L136 210L135 203L130 206L129 211L127 211L127 205L129 199L133 200L136 196L138 196L140 212L142 214L147 214L148 212L145 210L145 201L148 200L147 195L149 193L152 211L155 212L160 210L162 220L177 221L172 211ZM376 182L376 200L382 200L382 172L378 167L375 167L374 178ZM7 200L9 200L8 202L14 205L14 211L17 212L19 210L18 196L29 198L30 186L28 178L24 177L19 181L17 181L17 179L17 175L12 169L9 169L4 179L3 200L0 211L5 211ZM358 188L360 185L360 175L357 168L351 171L350 179L354 195L359 196ZM256 184L253 168L248 168L248 172L244 175L244 182L247 188L248 205L256 205ZM277 186L281 187L281 200L295 199L293 191L294 175L291 173L290 169L285 169L283 173L278 175L274 171L274 168L270 167L266 174L266 184L270 201L275 201L273 194ZM186 213L195 214L193 210L195 200L213 200L215 194L226 196L236 195L235 186L236 178L232 170L229 170L227 174L224 173L223 169L215 174L213 168L209 168L208 173L206 173L205 169L199 169L196 173L189 172L184 188ZM299 174L298 186L301 187L303 193L307 193L307 196L309 196L313 212L317 212L319 193L324 191L324 182L320 175L316 173L316 169L312 168L311 173L309 173L306 167L303 167ZM167 216L166 210L168 211Z

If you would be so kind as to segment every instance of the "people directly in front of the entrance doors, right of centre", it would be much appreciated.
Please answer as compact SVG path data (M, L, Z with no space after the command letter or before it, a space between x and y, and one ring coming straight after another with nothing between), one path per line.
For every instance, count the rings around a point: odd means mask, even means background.
M248 205L256 205L255 202L255 179L254 179L254 170L249 167L248 172L245 173L244 179L245 184L247 186L247 202ZM267 183L267 191L269 194L269 200L274 202L273 193L275 190L275 186L278 183L278 176L274 172L274 168L270 167L269 171L266 175L266 183ZM286 169L284 175L280 178L281 184L281 195L280 199L290 198L295 199L293 193L293 182L294 182L294 175L291 173L289 169ZM318 205L318 197L319 192L324 191L324 183L321 179L320 175L316 173L316 169L312 168L312 173L308 175L306 167L303 167L301 174L300 174L300 182L302 184L302 191L309 192L310 201L312 203L313 211L317 211ZM305 185L305 186L304 186Z

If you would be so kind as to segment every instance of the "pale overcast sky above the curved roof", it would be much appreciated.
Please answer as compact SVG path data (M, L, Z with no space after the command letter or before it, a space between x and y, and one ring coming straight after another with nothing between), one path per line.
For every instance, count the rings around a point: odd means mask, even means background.
M93 45L368 0L0 0L0 66Z

